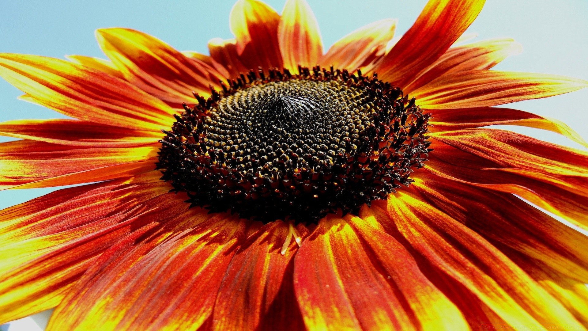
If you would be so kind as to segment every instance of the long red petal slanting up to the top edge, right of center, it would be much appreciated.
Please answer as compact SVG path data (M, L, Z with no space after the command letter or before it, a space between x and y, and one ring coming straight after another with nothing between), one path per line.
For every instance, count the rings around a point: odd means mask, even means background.
M433 64L472 24L485 0L430 0L415 24L379 62L379 78L400 88Z

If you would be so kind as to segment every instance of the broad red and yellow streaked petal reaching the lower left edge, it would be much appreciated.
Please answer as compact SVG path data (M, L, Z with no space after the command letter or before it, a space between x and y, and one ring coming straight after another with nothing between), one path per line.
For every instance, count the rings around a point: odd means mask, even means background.
M0 323L56 306L96 256L149 223L152 198L177 199L160 176L66 188L0 211Z

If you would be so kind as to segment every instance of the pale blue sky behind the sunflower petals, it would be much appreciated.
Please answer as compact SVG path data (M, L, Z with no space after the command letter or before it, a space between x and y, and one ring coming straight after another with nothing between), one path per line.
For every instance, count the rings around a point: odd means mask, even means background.
M397 35L415 21L426 0L307 0L315 12L323 47L373 21L398 18ZM266 1L278 12L285 1ZM229 12L233 1L2 1L0 52L64 58L68 54L105 58L96 44L97 28L127 27L147 32L179 50L208 54L209 39L232 38ZM568 75L588 80L588 1L487 0L467 32L476 40L512 37L523 54L497 65L506 71ZM0 80L0 121L64 118L58 112L16 100L22 93ZM562 120L588 140L588 89L509 107ZM506 127L513 130L515 127ZM557 134L535 129L519 133L575 148L585 148ZM0 141L12 140L2 138ZM0 208L42 196L55 188L0 191ZM6 327L3 327L4 329ZM0 329L2 330L2 329ZM16 325L11 328L16 329ZM2 330L4 331L4 330Z

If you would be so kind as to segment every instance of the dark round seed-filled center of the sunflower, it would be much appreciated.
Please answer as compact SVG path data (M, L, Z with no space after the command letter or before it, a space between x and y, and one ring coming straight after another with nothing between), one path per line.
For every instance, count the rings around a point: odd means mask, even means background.
M158 167L192 206L265 223L358 213L412 182L429 114L402 91L347 71L250 71L163 131Z

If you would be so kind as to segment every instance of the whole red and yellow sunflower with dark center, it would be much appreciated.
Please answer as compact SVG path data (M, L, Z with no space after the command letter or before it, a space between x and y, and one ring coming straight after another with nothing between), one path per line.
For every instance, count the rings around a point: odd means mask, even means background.
M588 153L488 125L588 87L490 70L512 39L456 45L483 0L430 0L326 54L304 0L230 13L210 55L139 31L109 60L0 54L26 100L72 119L0 133L0 323L49 330L584 330ZM519 197L517 197L519 196Z

